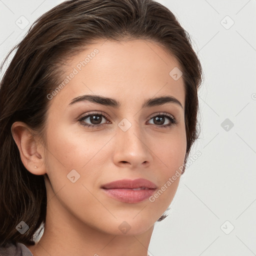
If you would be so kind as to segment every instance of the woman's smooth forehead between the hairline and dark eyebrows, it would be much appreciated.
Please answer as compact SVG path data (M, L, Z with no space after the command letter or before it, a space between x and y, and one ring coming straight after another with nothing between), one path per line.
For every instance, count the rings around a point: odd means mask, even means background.
M96 94L128 106L171 95L184 106L182 76L173 79L171 75L177 68L181 69L178 61L152 41L98 41L70 58L53 101L68 105L74 97Z

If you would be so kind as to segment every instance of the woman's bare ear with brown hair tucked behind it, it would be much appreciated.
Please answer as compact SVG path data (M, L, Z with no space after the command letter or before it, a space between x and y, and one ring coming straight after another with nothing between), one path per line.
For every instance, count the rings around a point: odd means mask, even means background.
M25 168L35 175L45 174L43 146L24 122L14 122L11 134L17 144Z

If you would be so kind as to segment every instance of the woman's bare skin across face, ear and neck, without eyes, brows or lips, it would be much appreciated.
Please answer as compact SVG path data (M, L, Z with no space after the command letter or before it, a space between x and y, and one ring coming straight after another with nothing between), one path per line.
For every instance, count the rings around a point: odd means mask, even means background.
M118 201L100 189L123 178L145 178L159 189L174 175L186 150L185 90L182 77L174 80L169 75L179 67L177 60L148 40L95 42L70 59L65 75L95 48L99 52L49 100L45 145L25 123L15 122L11 128L26 169L47 174L44 233L28 246L35 256L145 256L154 223L178 186L179 177L154 202L138 203ZM84 94L114 98L121 105L69 105ZM183 108L173 102L141 108L146 99L165 95L175 97ZM101 127L86 127L77 120L101 111L108 115L102 117ZM170 121L164 117L164 124L158 125L153 118L158 112L171 114L177 123L161 127ZM118 126L123 118L131 124L126 131ZM93 123L88 117L84 122ZM72 169L80 175L74 183L67 178ZM126 233L118 228L123 221L130 226Z

